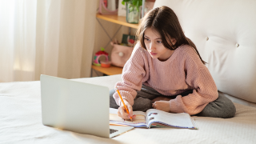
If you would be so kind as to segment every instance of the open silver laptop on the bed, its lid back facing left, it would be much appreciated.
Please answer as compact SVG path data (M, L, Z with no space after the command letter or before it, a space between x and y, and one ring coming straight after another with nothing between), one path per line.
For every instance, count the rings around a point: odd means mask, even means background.
M41 75L42 124L81 134L113 138L133 129L110 126L109 89Z

